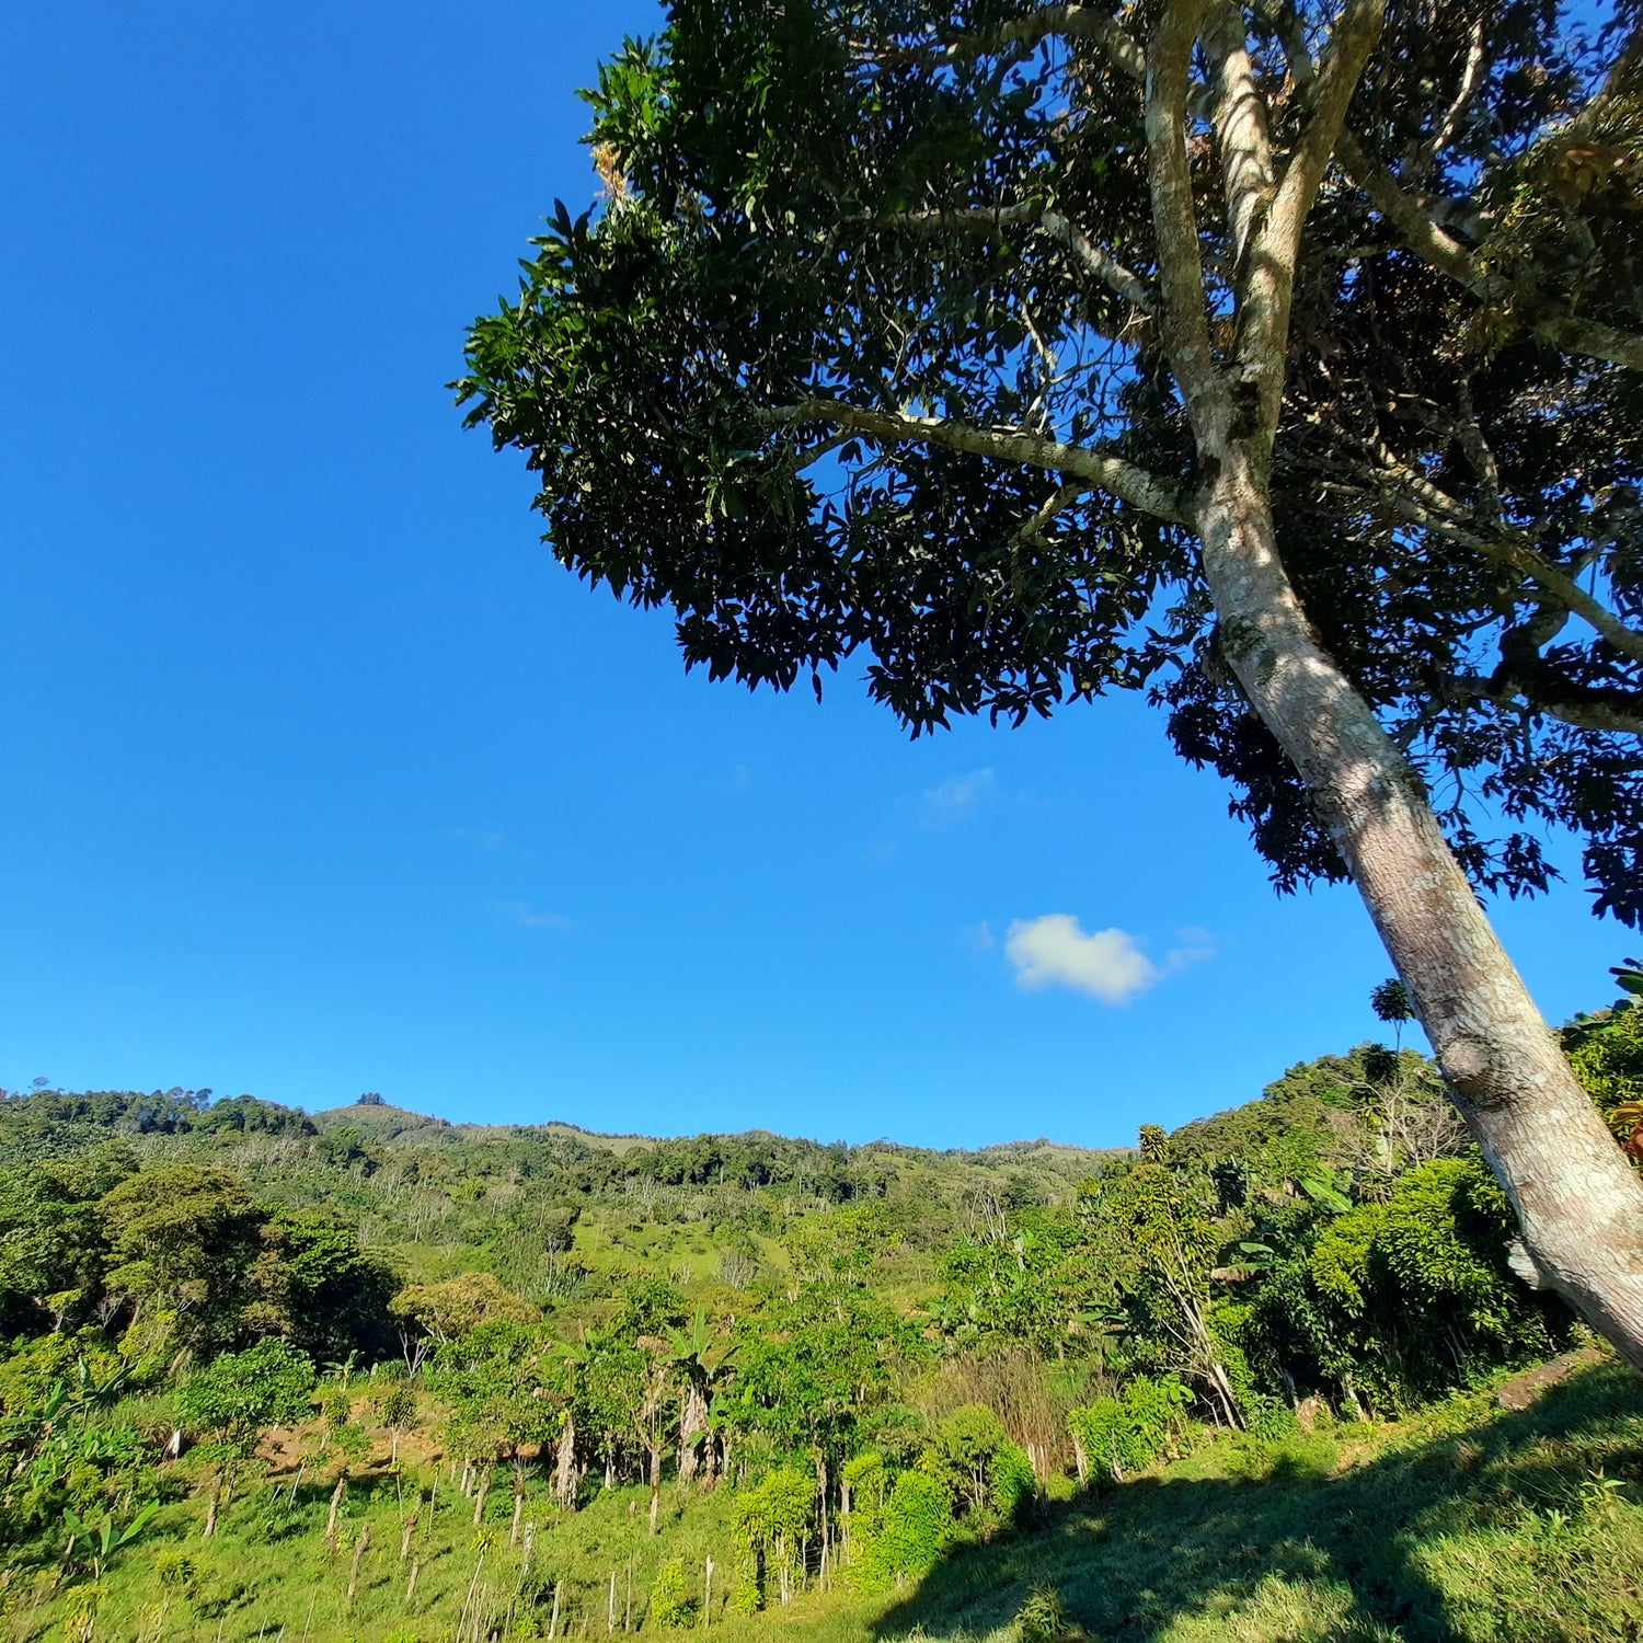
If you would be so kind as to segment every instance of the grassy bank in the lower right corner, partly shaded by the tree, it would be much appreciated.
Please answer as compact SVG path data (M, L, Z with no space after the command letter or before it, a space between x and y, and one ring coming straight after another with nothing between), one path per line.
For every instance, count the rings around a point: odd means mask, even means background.
M1587 1370L1525 1413L1457 1400L1352 1459L1346 1426L1050 1507L1035 1531L945 1559L874 1635L986 1636L1042 1585L1104 1643L1643 1638L1630 1372Z

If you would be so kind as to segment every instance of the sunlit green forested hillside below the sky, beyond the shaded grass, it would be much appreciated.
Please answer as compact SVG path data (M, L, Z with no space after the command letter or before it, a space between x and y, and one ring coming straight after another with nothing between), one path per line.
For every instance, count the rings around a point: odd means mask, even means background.
M1622 1145L1628 1004L1564 1030ZM1431 1063L1377 1043L1109 1153L41 1088L0 1158L16 1638L258 1635L225 1536L335 1562L312 1635L748 1623L1585 1341Z

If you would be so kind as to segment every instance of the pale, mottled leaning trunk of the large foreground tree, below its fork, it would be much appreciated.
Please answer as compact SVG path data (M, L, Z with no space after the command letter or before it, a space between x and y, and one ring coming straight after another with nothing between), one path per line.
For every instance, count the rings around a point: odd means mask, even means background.
M1314 637L1247 447L1199 427L1199 452L1221 649L1306 784L1518 1213L1513 1265L1643 1369L1643 1185L1490 928L1420 777Z

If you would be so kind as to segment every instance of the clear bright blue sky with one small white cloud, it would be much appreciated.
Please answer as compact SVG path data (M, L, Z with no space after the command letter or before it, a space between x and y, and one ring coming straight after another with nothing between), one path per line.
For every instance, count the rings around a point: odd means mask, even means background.
M656 18L0 21L0 1084L1099 1145L1374 1030L1355 895L1275 899L1140 703L909 744L541 547L442 384ZM1607 1001L1577 877L1498 922Z

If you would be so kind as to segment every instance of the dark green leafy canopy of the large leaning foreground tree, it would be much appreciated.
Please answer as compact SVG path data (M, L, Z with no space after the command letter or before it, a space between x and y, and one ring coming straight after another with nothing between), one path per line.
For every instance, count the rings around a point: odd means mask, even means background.
M1291 10L1319 49L1331 10ZM1001 25L1024 15L674 5L585 94L603 202L555 202L453 386L470 422L524 452L555 557L669 606L687 665L820 693L859 657L915 733L1150 687L1181 756L1234 784L1277 882L1339 877L1171 519L1199 475L1152 299L1091 278L1071 230L1040 232L1053 210L1157 276L1140 90L1088 69L1101 53L1084 31L1076 49L1012 46ZM1306 100L1283 28L1239 15L1290 151ZM1145 41L1148 13L1122 21ZM1474 31L1472 53L1452 46ZM1295 284L1272 499L1323 642L1428 785L1456 795L1443 820L1467 871L1544 889L1541 826L1566 826L1599 907L1636 922L1635 649L1574 636L1569 606L1490 552L1505 526L1554 577L1595 557L1594 588L1635 631L1636 373L1533 332L1571 304L1636 329L1636 104L1577 113L1602 81L1581 20L1539 0L1388 8L1351 128L1410 197L1454 202L1449 227L1512 271L1513 296L1434 276L1331 171ZM1204 159L1204 255L1234 281ZM1582 194L1571 176L1587 173L1604 186ZM1216 302L1232 317L1226 291ZM1053 452L943 440L909 414L1142 463L1163 501L1063 490L1078 470ZM1434 490L1436 522L1418 506ZM1484 836L1502 818L1510 831Z

